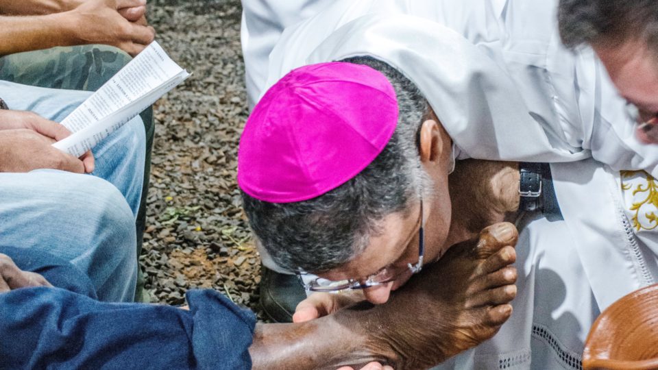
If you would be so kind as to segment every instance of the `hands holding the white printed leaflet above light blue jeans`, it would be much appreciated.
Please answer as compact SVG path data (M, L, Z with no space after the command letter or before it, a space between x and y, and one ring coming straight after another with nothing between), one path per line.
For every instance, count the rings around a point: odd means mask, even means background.
M94 157L90 151L80 160L52 147L70 134L66 127L32 112L0 110L0 172L92 172Z

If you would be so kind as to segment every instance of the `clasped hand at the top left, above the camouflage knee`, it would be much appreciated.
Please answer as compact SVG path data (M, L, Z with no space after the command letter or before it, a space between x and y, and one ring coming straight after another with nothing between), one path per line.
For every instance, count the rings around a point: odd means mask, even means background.
M144 12L143 0L88 0L69 13L81 43L112 45L136 56L156 34Z

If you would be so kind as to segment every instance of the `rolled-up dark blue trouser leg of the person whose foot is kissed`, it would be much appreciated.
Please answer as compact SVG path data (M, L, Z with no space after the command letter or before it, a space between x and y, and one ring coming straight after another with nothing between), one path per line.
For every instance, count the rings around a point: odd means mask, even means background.
M60 288L0 294L2 369L251 369L254 315L210 291L190 310Z

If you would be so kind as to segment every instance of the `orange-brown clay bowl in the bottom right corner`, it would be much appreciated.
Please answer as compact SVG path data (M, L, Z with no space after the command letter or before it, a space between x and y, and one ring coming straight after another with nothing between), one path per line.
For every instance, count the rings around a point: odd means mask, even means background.
M587 336L583 369L658 369L658 284L600 314Z

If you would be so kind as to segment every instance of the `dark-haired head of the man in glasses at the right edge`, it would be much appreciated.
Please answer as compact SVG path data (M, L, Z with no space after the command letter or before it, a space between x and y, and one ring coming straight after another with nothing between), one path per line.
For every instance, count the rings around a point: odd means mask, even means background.
M561 0L559 28L568 47L591 45L639 125L658 143L658 1Z

